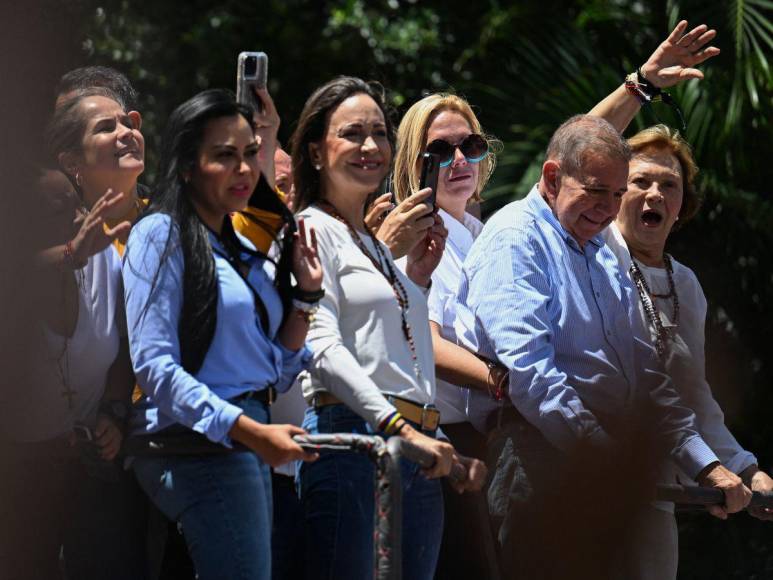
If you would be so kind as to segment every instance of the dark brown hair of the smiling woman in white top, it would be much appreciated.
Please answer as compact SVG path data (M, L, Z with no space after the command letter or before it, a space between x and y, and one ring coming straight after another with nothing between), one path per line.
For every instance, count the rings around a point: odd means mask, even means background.
M395 122L392 110L386 104L384 87L356 77L341 76L319 87L306 101L298 125L290 138L295 183L295 211L302 211L320 197L319 171L311 161L309 144L325 136L332 112L351 96L365 94L373 99L384 114L387 138L395 150Z

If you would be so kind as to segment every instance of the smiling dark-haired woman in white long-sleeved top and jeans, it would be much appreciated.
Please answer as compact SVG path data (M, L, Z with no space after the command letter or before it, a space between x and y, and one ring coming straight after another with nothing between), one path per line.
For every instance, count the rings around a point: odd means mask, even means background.
M365 202L390 169L392 142L382 93L351 77L315 91L293 135L296 207L317 231L325 273L325 296L308 335L314 359L304 391L312 407L304 428L398 435L433 454L435 465L425 473L408 462L402 466L403 577L428 580L443 520L437 478L460 461L436 438L425 298L445 232L436 224L414 246L406 275L365 225ZM417 211L429 214L424 206ZM475 472L479 464L468 467ZM355 454L327 455L301 467L306 567L313 577L372 575L373 480L370 461Z

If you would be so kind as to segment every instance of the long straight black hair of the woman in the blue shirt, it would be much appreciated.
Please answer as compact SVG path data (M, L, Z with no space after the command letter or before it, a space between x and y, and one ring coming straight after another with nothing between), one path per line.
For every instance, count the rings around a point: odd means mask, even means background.
M186 182L185 175L189 175L195 167L207 125L215 119L238 115L244 117L250 126L255 128L252 108L237 103L230 91L220 89L201 92L172 112L161 141L161 158L155 192L150 207L145 213L145 215L164 213L172 218L159 271L175 249L171 245L171 229L176 227L179 230L184 271L178 336L182 366L191 374L201 368L215 334L218 285L215 259L209 241L210 230L199 219L191 201L191 185ZM291 225L291 230L294 231L295 222L292 214L286 209L276 192L266 185L265 179L258 181L258 186L251 196L250 205L283 216L285 223ZM223 221L220 241L233 257L238 258L242 252L266 257L256 250L246 248L241 243L228 216ZM275 283L287 312L287 304L291 300L292 231L285 232L280 241L280 247ZM158 275L159 273L156 272L151 288L155 288ZM255 298L259 300L257 295ZM148 301L152 299L153 290Z

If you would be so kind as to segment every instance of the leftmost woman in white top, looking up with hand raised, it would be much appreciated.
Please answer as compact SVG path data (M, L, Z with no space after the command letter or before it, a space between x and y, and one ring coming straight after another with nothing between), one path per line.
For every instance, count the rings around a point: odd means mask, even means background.
M120 100L106 88L81 90L47 130L70 183L41 183L50 195L34 216L47 246L36 257L45 283L31 289L41 355L34 388L16 394L19 408L2 425L19 484L4 498L15 537L0 546L18 548L0 554L4 578L58 577L60 552L71 578L145 576L142 494L115 461L134 374L114 244L128 235L123 220L137 207L145 167L139 117Z

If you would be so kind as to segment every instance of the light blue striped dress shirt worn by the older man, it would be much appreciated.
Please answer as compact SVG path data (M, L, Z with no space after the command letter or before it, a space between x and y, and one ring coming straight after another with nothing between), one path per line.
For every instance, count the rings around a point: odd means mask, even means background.
M660 372L627 284L603 238L581 248L535 186L493 216L473 244L457 334L511 370L510 399L557 448L582 440L614 446L614 432L650 397L674 459L695 476L716 456ZM479 396L470 412L480 414L481 405L497 408Z

